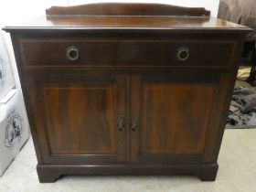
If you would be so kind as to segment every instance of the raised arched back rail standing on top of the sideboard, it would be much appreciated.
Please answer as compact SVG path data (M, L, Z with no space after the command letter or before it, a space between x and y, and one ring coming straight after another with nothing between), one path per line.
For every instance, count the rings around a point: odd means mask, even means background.
M160 4L101 3L78 6L52 6L46 10L48 16L209 16L205 8L182 7Z

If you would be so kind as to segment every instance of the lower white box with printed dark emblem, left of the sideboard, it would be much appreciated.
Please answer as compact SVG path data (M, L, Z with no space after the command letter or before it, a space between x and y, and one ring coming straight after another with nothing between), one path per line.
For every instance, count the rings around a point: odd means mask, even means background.
M29 137L29 125L20 90L0 101L0 176L19 154Z

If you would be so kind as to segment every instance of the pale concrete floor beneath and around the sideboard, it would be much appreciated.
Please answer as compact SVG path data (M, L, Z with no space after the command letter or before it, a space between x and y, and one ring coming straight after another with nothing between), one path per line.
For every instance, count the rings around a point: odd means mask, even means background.
M65 176L54 184L39 184L36 164L30 139L0 178L0 192L255 192L256 129L225 131L215 182L201 182L194 176Z

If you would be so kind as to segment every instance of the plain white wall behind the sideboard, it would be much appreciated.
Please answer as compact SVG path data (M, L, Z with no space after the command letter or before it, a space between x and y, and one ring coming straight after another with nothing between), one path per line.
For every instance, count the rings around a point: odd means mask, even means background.
M211 11L211 16L217 16L219 9L219 0L7 0L0 6L0 27L16 24L29 20L35 16L45 15L45 9L51 5L81 5L101 2L131 2L131 3L160 3L170 5L181 5L191 7L205 7ZM19 88L20 83L16 71L16 62L12 50L11 41L8 34L5 34L7 47L10 52L10 58L14 68L16 85Z

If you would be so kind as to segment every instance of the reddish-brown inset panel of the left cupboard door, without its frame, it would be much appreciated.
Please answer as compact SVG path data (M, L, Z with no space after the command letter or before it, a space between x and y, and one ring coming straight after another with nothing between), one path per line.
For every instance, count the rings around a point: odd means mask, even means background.
M52 155L114 155L115 89L44 86L44 113ZM58 138L58 139L56 139Z

